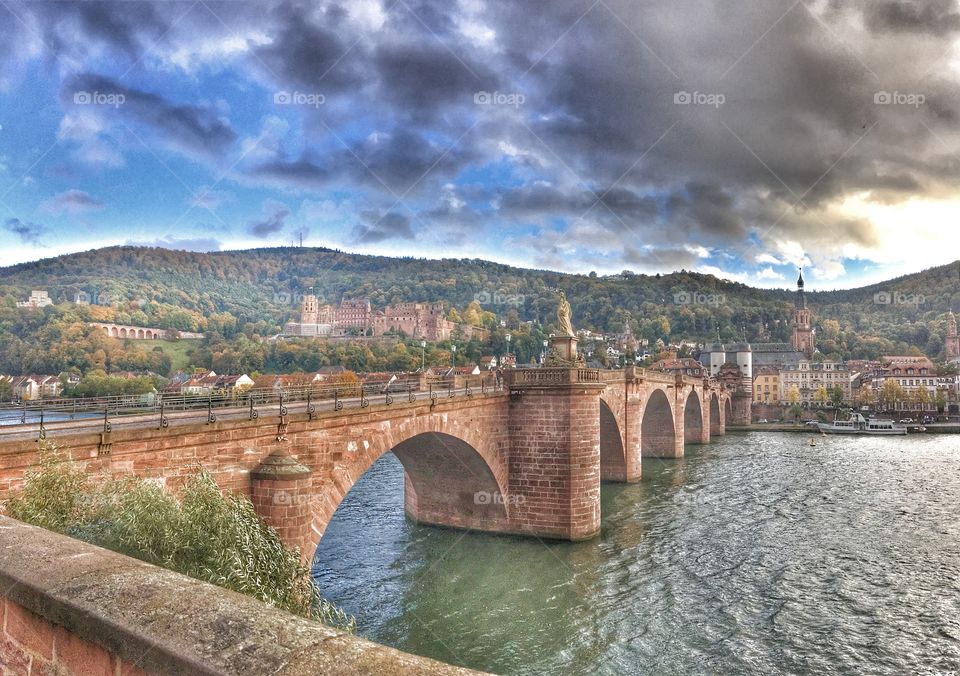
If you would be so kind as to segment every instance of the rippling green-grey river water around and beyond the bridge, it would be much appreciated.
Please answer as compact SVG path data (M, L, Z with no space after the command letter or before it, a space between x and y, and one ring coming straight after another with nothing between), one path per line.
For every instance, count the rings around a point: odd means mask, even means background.
M387 455L314 575L362 635L499 673L960 672L960 437L807 444L645 460L576 544L413 525Z

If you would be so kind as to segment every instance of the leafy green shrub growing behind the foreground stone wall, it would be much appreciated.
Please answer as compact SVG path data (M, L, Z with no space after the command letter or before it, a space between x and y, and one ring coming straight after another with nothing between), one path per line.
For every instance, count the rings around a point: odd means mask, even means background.
M248 594L346 631L356 621L320 594L310 569L253 503L224 496L202 467L179 496L140 477L100 477L41 442L36 469L7 502L15 519Z

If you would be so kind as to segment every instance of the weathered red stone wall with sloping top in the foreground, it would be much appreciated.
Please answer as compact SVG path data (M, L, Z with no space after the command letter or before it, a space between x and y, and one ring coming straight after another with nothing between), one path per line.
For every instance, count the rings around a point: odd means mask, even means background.
M0 517L0 673L467 674Z

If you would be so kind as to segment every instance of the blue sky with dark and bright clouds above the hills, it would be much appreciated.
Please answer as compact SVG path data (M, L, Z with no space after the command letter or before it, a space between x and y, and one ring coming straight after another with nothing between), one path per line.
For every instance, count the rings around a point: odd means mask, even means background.
M954 0L0 3L0 264L303 241L850 287L958 257Z

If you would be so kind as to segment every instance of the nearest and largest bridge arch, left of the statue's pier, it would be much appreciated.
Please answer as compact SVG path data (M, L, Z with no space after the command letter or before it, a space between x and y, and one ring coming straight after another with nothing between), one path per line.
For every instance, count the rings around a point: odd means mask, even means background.
M346 452L335 460L330 479L313 487L308 545L311 558L347 493L389 451L403 465L403 501L408 517L418 523L510 531L515 505L508 492L508 468L497 440L491 436L484 435L476 425L459 425L446 415L432 414L384 428L382 434L347 442Z

